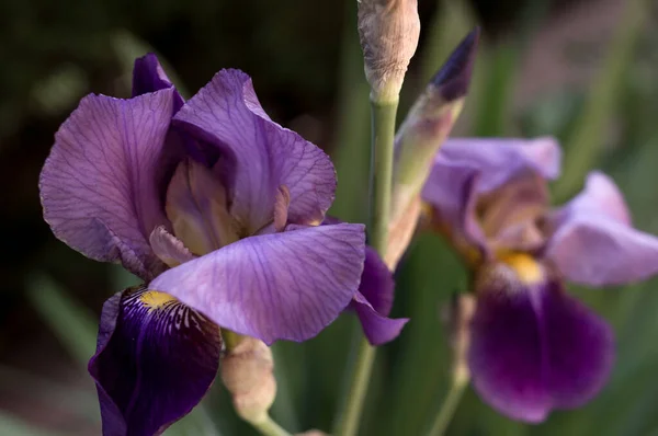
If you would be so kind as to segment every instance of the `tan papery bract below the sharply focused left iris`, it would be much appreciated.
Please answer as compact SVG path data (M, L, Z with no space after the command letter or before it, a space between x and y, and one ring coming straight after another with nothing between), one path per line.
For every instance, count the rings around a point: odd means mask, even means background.
M253 337L241 337L222 357L222 380L242 420L260 423L268 418L268 411L276 397L273 369L272 351Z

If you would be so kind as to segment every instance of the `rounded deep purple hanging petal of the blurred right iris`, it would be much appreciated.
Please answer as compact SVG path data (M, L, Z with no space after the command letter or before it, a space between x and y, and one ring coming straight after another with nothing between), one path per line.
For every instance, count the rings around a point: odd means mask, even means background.
M527 422L582 405L610 374L610 326L559 282L524 284L502 268L479 282L469 349L475 389L500 413Z

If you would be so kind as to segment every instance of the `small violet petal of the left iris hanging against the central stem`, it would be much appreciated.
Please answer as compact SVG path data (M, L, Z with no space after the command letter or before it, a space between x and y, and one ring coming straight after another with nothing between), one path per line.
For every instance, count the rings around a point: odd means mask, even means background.
M393 308L394 289L390 271L377 252L366 246L361 285L350 306L356 311L363 332L373 345L393 341L409 321L407 318L388 318Z

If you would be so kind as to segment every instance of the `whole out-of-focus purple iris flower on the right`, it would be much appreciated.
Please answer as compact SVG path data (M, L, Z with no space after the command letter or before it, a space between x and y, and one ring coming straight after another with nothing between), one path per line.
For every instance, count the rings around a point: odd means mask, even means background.
M451 139L422 193L433 225L474 273L474 387L527 422L585 404L613 365L611 328L564 280L621 285L658 272L658 239L632 227L606 175L590 173L578 196L548 207L546 184L559 164L551 138Z

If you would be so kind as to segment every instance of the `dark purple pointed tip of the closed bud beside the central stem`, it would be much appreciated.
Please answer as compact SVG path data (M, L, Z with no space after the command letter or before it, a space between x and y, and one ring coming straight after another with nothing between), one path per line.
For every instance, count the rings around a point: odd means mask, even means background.
M466 35L432 78L432 84L439 89L445 100L453 101L466 95L470 84L479 35L480 30L478 26Z

